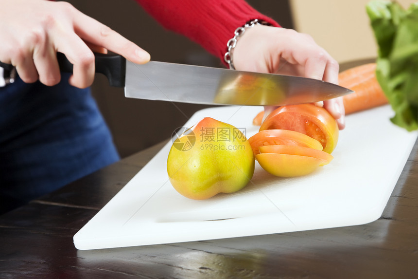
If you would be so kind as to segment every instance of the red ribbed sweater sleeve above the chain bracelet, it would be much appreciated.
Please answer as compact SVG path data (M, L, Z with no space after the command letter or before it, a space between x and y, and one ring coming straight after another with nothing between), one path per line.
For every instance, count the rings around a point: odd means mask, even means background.
M189 37L223 60L234 31L251 19L279 24L244 0L137 0L165 28Z

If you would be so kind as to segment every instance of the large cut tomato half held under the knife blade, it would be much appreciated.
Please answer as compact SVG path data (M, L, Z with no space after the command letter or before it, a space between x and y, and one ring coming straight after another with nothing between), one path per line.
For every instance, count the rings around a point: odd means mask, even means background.
M319 141L330 153L338 141L338 124L322 107L313 104L289 105L277 108L261 124L261 130L284 129L308 135Z

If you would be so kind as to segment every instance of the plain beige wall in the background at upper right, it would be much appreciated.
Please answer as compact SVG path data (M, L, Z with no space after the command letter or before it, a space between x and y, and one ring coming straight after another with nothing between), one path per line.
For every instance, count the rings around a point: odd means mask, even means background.
M311 35L338 62L377 56L366 13L369 0L290 0L295 29ZM404 8L413 0L397 0Z

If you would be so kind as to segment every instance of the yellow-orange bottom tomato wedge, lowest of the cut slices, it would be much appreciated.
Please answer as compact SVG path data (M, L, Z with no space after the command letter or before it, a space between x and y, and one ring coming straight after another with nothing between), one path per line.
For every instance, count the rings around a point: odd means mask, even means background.
M324 162L314 157L279 153L260 153L256 159L262 168L280 177L307 175Z

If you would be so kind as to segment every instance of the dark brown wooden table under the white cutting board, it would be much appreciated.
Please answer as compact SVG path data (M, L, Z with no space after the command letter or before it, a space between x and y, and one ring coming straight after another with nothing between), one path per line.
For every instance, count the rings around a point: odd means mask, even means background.
M358 226L78 251L73 235L164 143L0 216L0 278L415 278L418 143L383 216Z

